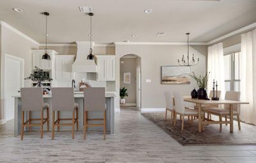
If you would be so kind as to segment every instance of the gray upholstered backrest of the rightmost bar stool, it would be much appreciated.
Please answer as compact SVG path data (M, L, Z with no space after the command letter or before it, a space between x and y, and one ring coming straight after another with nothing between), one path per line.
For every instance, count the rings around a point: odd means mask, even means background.
M84 89L84 111L104 111L105 109L105 88Z

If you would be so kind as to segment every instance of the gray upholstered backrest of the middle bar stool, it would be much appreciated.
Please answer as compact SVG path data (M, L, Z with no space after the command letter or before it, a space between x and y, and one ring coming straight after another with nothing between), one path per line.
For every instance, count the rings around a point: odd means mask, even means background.
M52 88L52 110L73 111L74 110L74 89L73 88Z

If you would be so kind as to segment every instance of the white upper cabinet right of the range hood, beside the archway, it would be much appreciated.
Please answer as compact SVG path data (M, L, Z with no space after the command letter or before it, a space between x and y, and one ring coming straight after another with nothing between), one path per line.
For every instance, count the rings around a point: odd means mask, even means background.
M115 55L96 55L96 58L97 81L115 81Z

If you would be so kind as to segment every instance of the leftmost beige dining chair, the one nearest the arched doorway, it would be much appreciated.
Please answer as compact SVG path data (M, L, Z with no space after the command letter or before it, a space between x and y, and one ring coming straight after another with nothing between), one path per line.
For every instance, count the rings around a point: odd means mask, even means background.
M173 106L173 95L172 91L166 90L164 91L164 97L165 97L165 117L164 119L167 120L167 112L171 111L171 120L174 119L175 109Z

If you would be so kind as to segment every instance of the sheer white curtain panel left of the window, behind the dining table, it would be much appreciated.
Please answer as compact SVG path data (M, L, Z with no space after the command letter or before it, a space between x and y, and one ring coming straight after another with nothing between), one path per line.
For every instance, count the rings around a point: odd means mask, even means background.
M223 99L223 95L225 95L223 43L208 47L207 71L210 72L207 92L209 93L212 90L212 81L218 81L218 90L221 90L221 99Z

